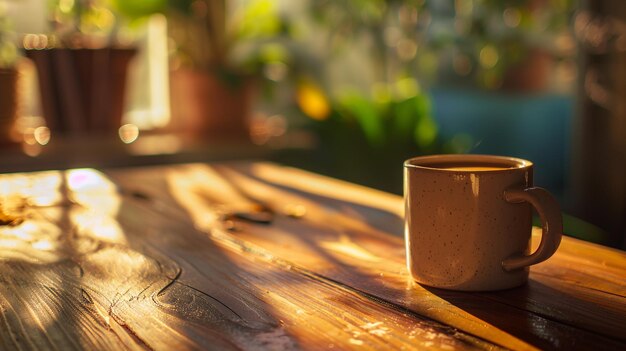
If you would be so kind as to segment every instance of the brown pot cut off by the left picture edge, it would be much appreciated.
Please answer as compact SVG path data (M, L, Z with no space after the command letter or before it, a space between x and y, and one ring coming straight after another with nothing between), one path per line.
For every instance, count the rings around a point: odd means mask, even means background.
M0 69L0 145L14 143L11 130L17 117L17 77L15 69Z

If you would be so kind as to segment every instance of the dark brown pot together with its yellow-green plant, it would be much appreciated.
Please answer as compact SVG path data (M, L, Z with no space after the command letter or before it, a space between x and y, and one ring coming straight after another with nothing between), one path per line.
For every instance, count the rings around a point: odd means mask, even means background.
M23 40L37 68L48 128L53 134L116 135L136 49L116 41L119 24L99 1L58 1L50 17L51 34Z

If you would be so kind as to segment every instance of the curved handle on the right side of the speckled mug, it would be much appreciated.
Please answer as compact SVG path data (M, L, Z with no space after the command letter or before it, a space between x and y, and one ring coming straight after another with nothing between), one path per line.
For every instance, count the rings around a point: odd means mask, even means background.
M505 190L504 199L510 203L529 202L541 217L542 232L541 242L535 252L528 256L508 257L502 261L502 268L508 272L550 258L559 247L563 235L563 218L556 199L548 191L539 187Z

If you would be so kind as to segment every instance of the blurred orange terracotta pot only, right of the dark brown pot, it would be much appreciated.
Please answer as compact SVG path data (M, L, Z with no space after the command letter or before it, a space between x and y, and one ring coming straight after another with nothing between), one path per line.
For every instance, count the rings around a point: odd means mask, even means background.
M191 69L171 72L171 128L212 139L248 140L253 86L245 77L228 77Z

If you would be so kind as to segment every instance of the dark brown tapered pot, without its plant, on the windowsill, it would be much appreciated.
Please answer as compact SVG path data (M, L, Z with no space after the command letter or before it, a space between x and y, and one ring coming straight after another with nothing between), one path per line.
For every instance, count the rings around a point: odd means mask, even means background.
M54 133L117 131L131 48L26 50L39 76L43 115Z

